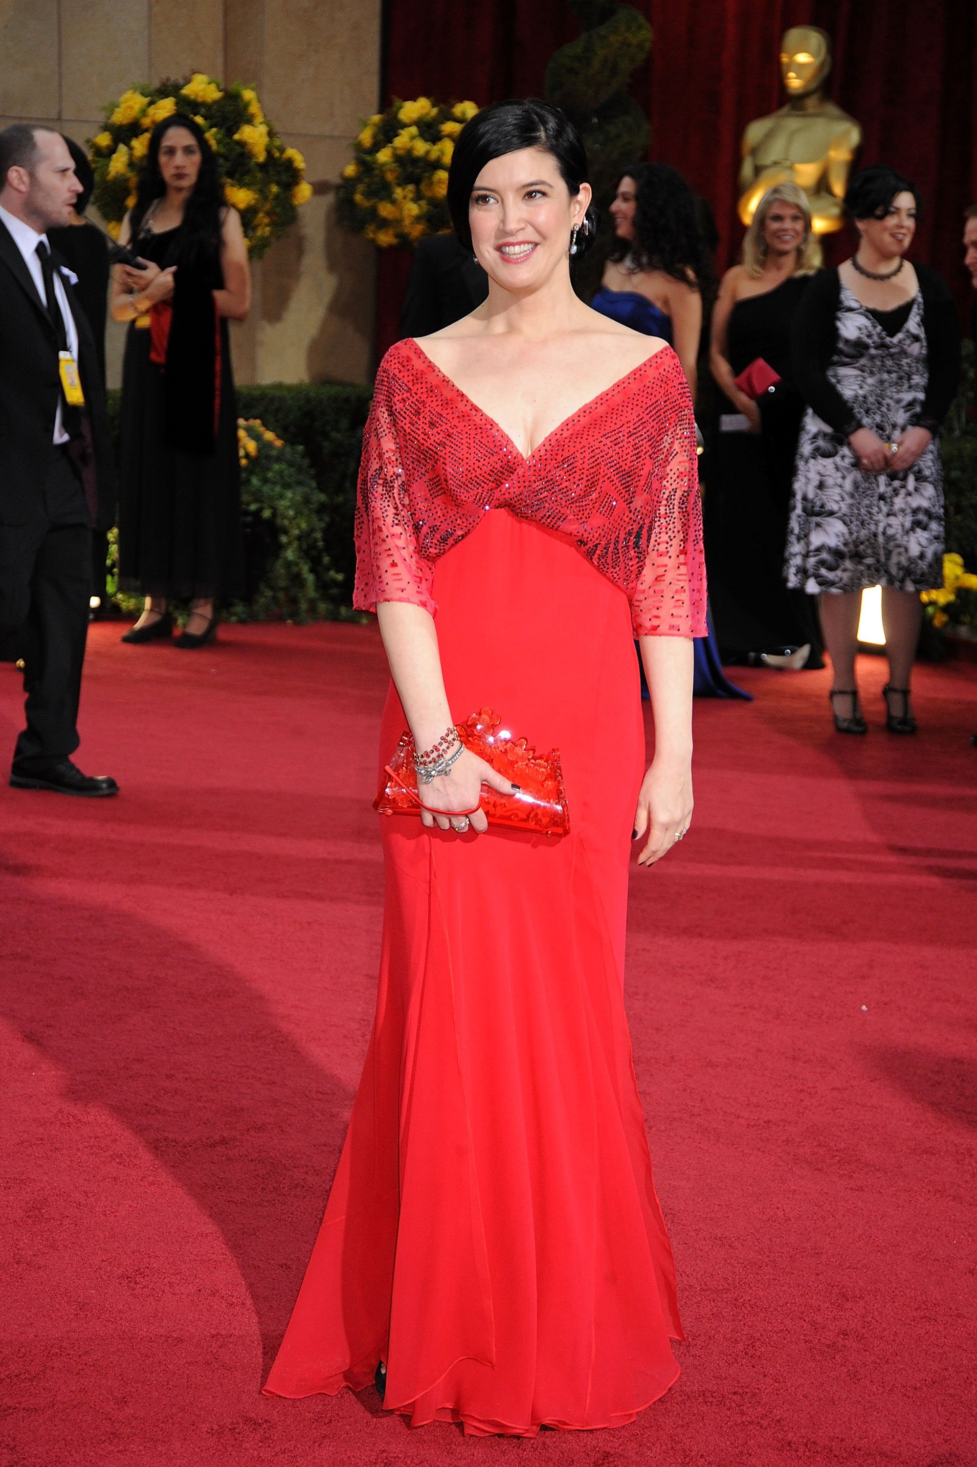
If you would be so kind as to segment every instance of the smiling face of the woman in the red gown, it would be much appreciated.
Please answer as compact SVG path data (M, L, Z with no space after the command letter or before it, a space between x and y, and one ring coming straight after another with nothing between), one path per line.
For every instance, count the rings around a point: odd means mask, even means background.
M506 290L533 292L568 268L571 230L582 224L590 183L571 195L556 158L543 148L487 163L471 191L468 223L478 264Z

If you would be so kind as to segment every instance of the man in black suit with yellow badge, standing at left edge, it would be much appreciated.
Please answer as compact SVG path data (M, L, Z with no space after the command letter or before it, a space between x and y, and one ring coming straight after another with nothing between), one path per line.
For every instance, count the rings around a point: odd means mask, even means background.
M79 192L59 132L0 132L0 631L19 638L26 692L10 785L104 797L114 779L82 775L70 754L111 443L91 329L47 241Z

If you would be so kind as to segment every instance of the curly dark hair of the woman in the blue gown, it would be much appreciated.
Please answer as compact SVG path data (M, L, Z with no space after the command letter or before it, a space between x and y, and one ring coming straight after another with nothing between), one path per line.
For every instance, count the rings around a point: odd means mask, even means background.
M679 170L670 163L635 163L619 175L615 191L621 179L635 182L634 239L615 239L609 258L631 255L643 270L663 270L673 280L703 289L713 267L695 195Z

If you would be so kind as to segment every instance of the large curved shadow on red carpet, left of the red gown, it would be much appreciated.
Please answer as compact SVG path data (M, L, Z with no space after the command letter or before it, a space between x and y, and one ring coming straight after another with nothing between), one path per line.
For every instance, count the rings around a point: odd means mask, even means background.
M111 908L6 882L0 1011L111 1111L220 1229L254 1301L263 1379L321 1222L352 1091L241 974ZM34 912L41 920L21 920Z

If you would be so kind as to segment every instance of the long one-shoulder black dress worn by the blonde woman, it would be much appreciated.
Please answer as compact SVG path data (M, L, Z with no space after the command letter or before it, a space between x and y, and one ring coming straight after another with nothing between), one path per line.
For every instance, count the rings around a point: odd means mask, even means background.
M794 455L804 415L804 399L791 376L791 326L808 285L810 276L791 276L773 290L736 301L726 329L733 376L761 356L780 377L757 402L761 431L717 431L703 475L709 599L728 662L810 643L805 666L823 666L817 603L788 590L783 578ZM720 414L738 412L722 395L719 403Z

